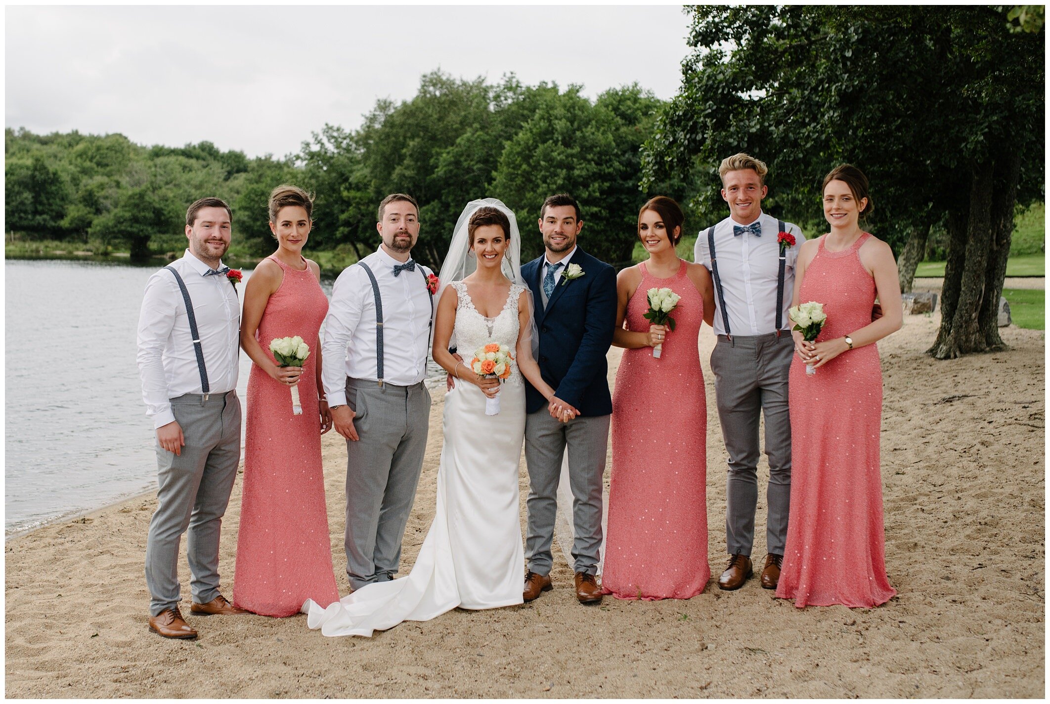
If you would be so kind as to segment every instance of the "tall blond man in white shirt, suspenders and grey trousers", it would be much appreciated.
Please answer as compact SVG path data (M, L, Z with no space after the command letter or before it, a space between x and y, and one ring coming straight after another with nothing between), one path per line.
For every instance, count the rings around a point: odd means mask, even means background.
M700 231L695 261L715 283L715 334L711 353L722 439L729 452L726 542L729 564L718 586L737 589L753 574L751 550L758 501L758 421L765 418L766 486L763 588L780 578L791 499L791 418L788 371L794 340L788 309L802 232L762 212L765 164L746 153L718 167L730 216ZM780 232L794 239L781 245Z

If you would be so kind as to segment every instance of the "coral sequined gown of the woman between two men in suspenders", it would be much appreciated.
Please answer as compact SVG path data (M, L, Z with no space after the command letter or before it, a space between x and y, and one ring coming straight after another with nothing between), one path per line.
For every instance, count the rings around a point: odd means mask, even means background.
M272 359L270 340L299 335L310 346L310 356L298 384L302 415L292 414L287 385L257 365L248 377L233 603L264 616L291 616L307 599L326 606L339 599L324 505L316 385L317 331L328 313L328 298L310 267L298 271L276 256L270 258L285 277L267 302L256 338Z

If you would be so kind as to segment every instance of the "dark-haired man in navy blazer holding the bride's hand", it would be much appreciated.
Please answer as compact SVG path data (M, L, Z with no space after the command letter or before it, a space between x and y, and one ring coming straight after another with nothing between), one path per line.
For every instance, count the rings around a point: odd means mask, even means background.
M526 381L525 460L528 464L528 536L525 589L531 601L551 588L551 541L558 512L562 457L568 446L572 490L576 599L602 601L594 579L602 544L602 475L612 398L605 355L616 323L616 274L576 246L580 206L564 193L540 210L545 253L522 267L532 290L543 378L554 388L545 399ZM563 411L569 412L562 422Z

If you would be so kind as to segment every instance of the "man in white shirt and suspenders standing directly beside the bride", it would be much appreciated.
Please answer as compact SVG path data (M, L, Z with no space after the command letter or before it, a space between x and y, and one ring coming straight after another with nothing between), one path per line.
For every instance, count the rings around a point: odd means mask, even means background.
M339 274L321 345L323 358L333 360L321 377L333 426L346 438L352 589L397 574L430 417L423 378L434 323L432 272L411 257L419 206L393 193L377 214L382 244Z

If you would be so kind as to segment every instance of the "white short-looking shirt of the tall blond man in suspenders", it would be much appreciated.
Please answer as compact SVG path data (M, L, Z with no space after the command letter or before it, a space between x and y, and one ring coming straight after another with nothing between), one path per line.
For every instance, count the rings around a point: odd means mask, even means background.
M715 255L718 260L718 277L721 281L726 310L729 312L730 332L734 335L764 335L776 332L777 275L780 267L780 245L777 244L777 219L764 212L755 222L761 223L762 235L751 232L733 234L737 223L727 218L715 225ZM783 310L781 330L791 329L788 309L795 287L795 262L802 246L802 231L792 223L784 223L786 231L795 235L795 245L789 247L784 260ZM708 247L708 228L696 237L694 258L711 270L711 252ZM715 286L715 334L726 334L721 301Z

